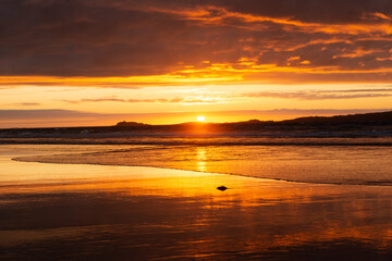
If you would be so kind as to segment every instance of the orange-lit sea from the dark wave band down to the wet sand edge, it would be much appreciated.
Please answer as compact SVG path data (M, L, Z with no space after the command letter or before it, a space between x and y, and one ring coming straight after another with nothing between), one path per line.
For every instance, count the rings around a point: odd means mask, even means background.
M389 137L117 137L45 141L60 148L66 148L61 142L73 144L78 149L44 156L37 151L36 156L15 160L156 166L316 184L392 185Z

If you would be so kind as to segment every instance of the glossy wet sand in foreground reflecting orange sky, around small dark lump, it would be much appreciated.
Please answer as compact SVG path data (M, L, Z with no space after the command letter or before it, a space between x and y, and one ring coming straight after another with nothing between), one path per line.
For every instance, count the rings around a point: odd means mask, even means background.
M392 187L15 162L11 147L0 157L0 260L392 258Z

